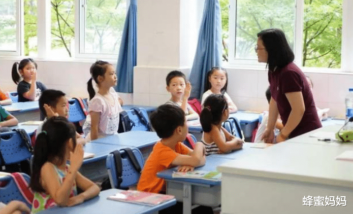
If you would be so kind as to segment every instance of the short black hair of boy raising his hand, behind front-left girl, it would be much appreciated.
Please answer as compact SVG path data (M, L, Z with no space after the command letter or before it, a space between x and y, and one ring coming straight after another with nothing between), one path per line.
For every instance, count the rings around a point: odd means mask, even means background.
M55 108L57 102L62 96L65 96L66 94L62 91L58 90L53 90L53 89L48 89L42 92L42 95L39 97L39 109L41 110L41 113L47 117L47 113L45 112L44 109L44 104L49 105L52 108Z

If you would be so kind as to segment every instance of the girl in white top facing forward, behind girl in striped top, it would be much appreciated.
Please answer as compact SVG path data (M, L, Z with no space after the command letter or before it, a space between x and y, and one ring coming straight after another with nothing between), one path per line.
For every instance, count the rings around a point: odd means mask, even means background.
M228 95L227 91L228 75L227 70L222 67L212 67L207 73L205 93L202 95L201 104L203 105L210 94L223 94L228 102L229 113L238 111L237 106Z

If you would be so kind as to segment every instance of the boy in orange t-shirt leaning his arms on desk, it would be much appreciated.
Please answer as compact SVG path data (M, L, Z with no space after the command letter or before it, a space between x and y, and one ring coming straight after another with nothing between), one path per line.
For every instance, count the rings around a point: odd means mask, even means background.
M179 166L178 171L192 171L194 167L205 164L205 152L201 142L197 142L194 151L182 141L187 134L185 113L179 107L164 104L150 116L151 124L158 141L143 167L137 189L139 191L165 193L166 182L157 177L157 172Z

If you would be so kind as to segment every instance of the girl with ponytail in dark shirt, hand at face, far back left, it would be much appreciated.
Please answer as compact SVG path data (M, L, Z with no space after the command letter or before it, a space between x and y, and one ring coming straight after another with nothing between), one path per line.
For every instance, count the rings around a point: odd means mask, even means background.
M37 63L31 58L22 59L20 63L15 62L11 74L17 85L19 102L38 100L47 89L43 83L37 81ZM20 75L23 78L21 82Z

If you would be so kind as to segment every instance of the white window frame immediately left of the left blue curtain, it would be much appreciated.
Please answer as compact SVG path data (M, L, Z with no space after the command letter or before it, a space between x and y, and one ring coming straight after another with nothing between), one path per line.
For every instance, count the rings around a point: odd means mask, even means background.
M92 54L83 53L85 47L85 7L87 0L75 1L75 58L94 58L94 59L110 59L117 60L118 52L116 54ZM126 12L129 10L130 1L126 0ZM119 46L120 48L120 46ZM82 51L81 51L82 50Z

